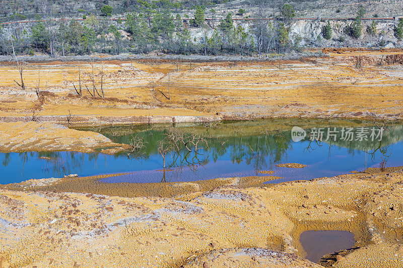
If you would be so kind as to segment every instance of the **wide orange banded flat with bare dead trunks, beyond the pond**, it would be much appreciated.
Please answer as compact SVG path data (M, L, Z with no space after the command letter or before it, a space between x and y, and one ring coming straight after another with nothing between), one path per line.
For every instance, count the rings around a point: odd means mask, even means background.
M78 62L29 63L26 91L13 81L19 72L0 67L3 122L76 125L200 122L246 118L402 119L400 50L324 50L327 57L266 62L105 61L105 99L84 87L78 97ZM361 68L356 57L361 56ZM381 62L382 61L382 62ZM101 63L95 65L99 87ZM35 93L38 70L39 97ZM82 63L82 83L92 89L91 65ZM168 75L168 72L170 73ZM168 77L169 76L169 77ZM168 81L169 80L169 81ZM169 99L164 97L168 94Z

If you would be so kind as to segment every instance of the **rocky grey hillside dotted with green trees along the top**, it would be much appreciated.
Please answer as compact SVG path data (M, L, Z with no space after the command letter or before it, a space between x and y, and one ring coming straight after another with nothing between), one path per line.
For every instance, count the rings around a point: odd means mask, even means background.
M0 4L0 54L11 55L14 49L50 57L162 52L260 58L310 47L400 47L403 22L377 20L397 14L393 3L387 12L375 13L382 6L350 3L342 10L320 1L7 0Z

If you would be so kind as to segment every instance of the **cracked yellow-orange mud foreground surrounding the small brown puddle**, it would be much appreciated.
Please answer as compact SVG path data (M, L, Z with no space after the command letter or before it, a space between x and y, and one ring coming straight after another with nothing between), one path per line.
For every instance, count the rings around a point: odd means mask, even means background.
M228 178L173 198L59 192L59 181L3 186L0 259L4 267L319 267L303 260L300 234L343 230L356 248L322 265L401 267L402 178L364 172L243 189Z

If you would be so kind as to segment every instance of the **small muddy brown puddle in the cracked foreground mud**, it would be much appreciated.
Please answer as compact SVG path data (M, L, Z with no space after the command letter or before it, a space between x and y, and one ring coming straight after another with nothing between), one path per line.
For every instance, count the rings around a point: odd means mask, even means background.
M318 263L326 254L352 248L354 235L348 231L305 231L301 234L301 242L306 258Z

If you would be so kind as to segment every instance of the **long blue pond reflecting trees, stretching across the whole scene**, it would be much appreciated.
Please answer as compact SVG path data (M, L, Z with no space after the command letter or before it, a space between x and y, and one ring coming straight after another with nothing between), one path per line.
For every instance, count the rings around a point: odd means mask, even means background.
M271 182L279 183L335 176L367 167L403 165L401 122L271 119L80 130L101 133L117 143L141 141L144 146L114 155L100 150L93 153L0 153L0 184L66 174L112 173L126 174L101 180L110 183L191 182L218 177L265 176L267 174L259 172L264 170L273 170L273 176L283 177ZM175 147L169 141L172 136L184 138L186 146L178 141ZM194 150L195 143L197 150ZM276 166L282 163L307 166Z

